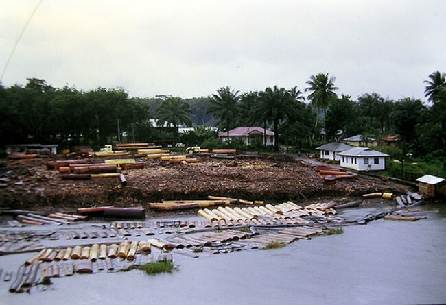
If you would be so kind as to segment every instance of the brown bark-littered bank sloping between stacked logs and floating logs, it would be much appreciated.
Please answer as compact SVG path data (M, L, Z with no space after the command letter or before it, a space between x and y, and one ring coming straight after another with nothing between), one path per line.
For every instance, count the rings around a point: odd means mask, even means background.
M196 156L197 164L168 164L139 160L144 169L124 170L128 186L116 179L62 180L47 170L49 158L14 161L1 170L2 206L11 208L91 206L145 206L162 199L200 199L223 195L269 201L306 200L321 196L354 196L375 191L403 193L406 186L378 178L324 182L311 164L290 156L264 154L255 158L215 160ZM104 162L91 158L90 162Z

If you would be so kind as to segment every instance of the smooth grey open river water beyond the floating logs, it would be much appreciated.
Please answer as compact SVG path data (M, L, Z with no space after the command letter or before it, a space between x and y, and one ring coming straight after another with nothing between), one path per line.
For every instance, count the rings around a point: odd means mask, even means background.
M438 208L436 206L435 208ZM340 214L355 218L371 209ZM372 221L282 249L174 256L174 273L97 273L54 279L0 304L438 304L446 303L446 204L415 222ZM17 265L30 254L0 257Z

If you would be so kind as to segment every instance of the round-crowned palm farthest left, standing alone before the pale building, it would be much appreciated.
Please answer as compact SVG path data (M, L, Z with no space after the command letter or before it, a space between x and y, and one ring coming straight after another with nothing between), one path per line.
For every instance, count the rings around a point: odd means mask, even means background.
M178 132L178 125L184 123L187 126L192 125L191 119L188 115L191 112L189 104L183 101L180 97L169 97L163 100L156 111L158 114L159 126L167 123L167 126L173 125L174 127L174 143L176 143L176 134Z

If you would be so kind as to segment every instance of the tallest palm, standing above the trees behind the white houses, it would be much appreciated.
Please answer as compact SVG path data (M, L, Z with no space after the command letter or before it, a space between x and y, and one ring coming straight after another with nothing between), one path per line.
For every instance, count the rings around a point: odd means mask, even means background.
M312 106L316 108L318 112L316 115L316 125L318 126L318 118L319 118L319 110L322 109L325 114L327 114L327 108L329 106L329 101L333 97L336 97L335 90L338 90L337 87L334 86L335 77L329 77L328 73L319 73L318 75L312 75L309 77L309 81L307 84L308 88L305 88L305 91L310 91L311 93L308 95L308 99L312 101Z

